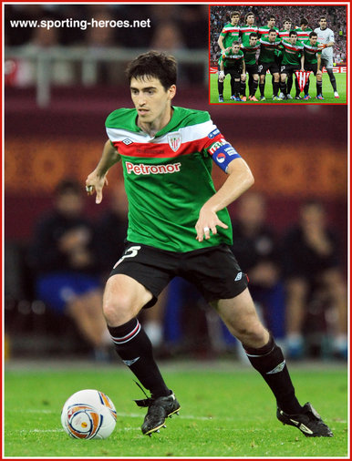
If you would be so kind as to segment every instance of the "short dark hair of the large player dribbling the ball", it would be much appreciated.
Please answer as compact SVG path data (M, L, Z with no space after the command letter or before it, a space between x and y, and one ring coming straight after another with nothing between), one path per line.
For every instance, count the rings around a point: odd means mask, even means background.
M177 62L171 55L152 50L135 57L126 68L126 74L129 83L132 78L146 76L159 78L166 90L176 84Z

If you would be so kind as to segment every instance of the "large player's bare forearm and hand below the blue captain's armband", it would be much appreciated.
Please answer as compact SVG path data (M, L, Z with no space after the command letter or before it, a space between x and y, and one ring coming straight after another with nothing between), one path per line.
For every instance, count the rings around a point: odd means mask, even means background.
M212 234L216 234L216 226L227 229L227 225L219 220L217 212L223 210L234 200L238 199L240 195L254 184L254 177L252 171L249 169L247 163L243 159L234 159L229 163L228 178L223 183L223 186L207 200L199 213L199 219L195 225L197 231L197 241L209 240Z

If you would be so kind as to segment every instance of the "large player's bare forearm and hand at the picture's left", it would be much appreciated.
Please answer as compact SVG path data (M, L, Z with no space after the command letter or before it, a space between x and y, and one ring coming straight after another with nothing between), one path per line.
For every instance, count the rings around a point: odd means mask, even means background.
M119 161L119 152L112 146L108 140L103 149L101 159L94 171L92 171L86 179L86 190L88 195L93 195L96 192L96 203L103 200L103 187L108 184L107 173L109 169Z

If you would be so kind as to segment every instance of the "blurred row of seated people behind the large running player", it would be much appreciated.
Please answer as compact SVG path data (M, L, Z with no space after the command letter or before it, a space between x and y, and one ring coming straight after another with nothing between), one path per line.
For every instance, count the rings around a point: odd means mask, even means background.
M92 222L81 185L65 179L57 185L53 207L37 222L22 263L28 305L38 302L51 323L66 318L97 359L107 359L111 344L101 312L102 287L123 253L128 201L123 184L109 188L109 207ZM297 221L280 235L267 220L269 203L248 191L233 213L233 252L250 280L264 324L291 359L347 358L347 286L341 269L339 236L319 200L302 201ZM8 264L9 262L7 262ZM10 266L7 266L7 268ZM18 271L18 267L16 268ZM16 270L7 278L16 275ZM7 294L7 302L10 293ZM13 294L13 298L16 295ZM10 304L7 305L7 307ZM16 308L14 308L16 310ZM192 353L235 353L242 348L196 289L174 279L140 321L160 357ZM10 334L20 323L6 323ZM51 325L53 326L53 325ZM192 331L192 333L191 333ZM61 332L67 341L67 331Z

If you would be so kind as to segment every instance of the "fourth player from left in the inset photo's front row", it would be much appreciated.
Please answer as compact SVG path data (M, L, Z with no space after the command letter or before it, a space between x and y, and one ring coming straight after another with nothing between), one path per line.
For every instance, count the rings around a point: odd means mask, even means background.
M286 77L293 75L296 70L305 70L303 67L305 56L303 53L303 45L297 41L297 33L295 30L291 30L288 40L283 40L281 46L283 49L283 60L281 63L280 89L284 94L282 98L288 99ZM295 78L295 99L302 99L302 97L299 96L300 92L301 90L297 78Z

